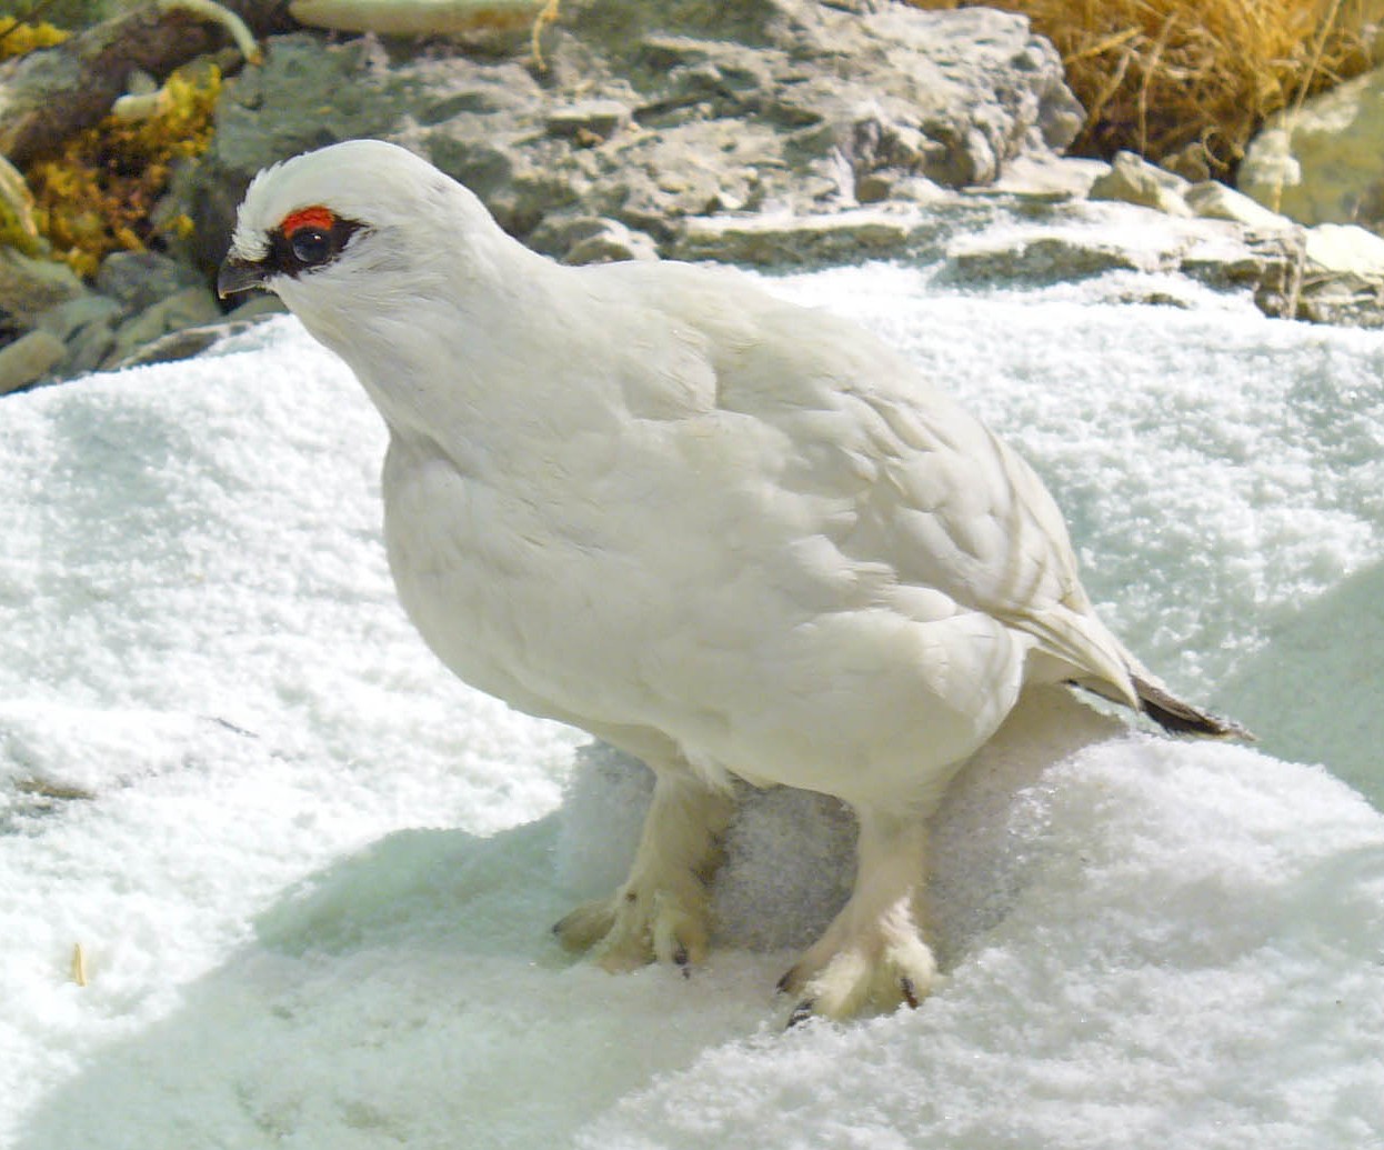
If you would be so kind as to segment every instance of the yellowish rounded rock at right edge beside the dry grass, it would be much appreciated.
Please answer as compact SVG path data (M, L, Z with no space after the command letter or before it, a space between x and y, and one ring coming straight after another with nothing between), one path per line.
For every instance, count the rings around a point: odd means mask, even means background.
M1272 116L1240 163L1240 191L1302 224L1384 231L1384 68Z

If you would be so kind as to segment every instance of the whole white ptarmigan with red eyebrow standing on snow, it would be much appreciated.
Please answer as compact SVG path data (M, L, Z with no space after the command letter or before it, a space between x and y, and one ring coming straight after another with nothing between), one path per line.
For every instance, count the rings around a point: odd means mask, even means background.
M853 324L729 271L562 267L379 141L256 177L219 281L251 286L389 425L385 541L429 646L653 769L628 880L555 927L610 969L704 955L740 778L859 818L797 1016L916 1005L926 819L1026 684L1243 733L1096 619L1028 465Z

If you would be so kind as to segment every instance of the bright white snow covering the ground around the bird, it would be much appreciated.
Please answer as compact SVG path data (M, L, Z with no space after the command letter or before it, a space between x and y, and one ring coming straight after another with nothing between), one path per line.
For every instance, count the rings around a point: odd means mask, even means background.
M848 818L750 796L691 980L562 955L645 774L435 664L383 563L382 429L292 321L12 396L0 1144L1384 1146L1384 335L1100 302L1116 278L774 289L1014 440L1117 630L1259 749L1034 696L937 821L945 984L783 1034Z

